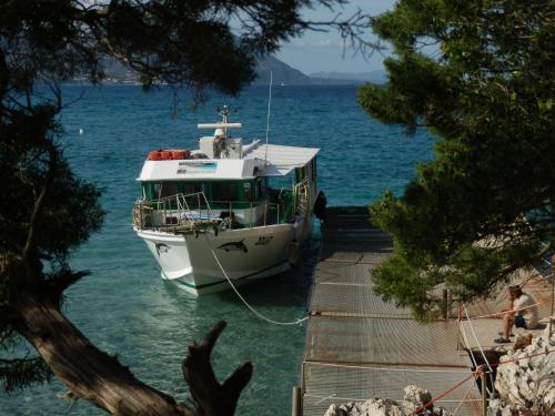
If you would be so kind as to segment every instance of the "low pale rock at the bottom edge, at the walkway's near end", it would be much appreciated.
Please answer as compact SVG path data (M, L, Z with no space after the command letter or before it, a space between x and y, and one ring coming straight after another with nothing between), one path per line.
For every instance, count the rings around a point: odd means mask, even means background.
M430 392L406 386L402 404L386 398L371 398L366 402L350 402L343 405L331 405L324 416L408 416L432 399ZM428 406L418 413L422 416L448 416L442 408Z

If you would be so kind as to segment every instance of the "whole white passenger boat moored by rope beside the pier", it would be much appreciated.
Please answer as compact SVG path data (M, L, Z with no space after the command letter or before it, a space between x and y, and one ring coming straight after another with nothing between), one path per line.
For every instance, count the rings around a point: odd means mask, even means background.
M164 280L193 295L286 271L311 230L319 149L243 143L241 123L199 124L196 150L149 153L133 229Z

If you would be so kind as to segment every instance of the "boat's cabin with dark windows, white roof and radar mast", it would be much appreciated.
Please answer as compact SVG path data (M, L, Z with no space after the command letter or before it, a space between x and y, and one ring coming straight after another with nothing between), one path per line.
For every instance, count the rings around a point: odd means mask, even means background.
M252 227L293 222L310 213L316 193L319 149L261 144L246 145L231 138L224 109L223 123L199 124L214 129L199 139L198 150L159 150L149 153L140 176L141 217L151 210L151 226L180 223L168 211L206 211L226 219L228 227ZM300 211L303 211L300 213ZM155 214L154 214L155 212Z

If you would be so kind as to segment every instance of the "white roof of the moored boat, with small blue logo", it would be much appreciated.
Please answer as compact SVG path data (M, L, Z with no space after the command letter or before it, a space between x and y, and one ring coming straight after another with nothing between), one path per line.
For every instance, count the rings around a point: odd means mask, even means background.
M254 142L245 148L242 159L147 160L137 180L249 180L258 176L285 176L295 168L309 164L320 151L316 148Z

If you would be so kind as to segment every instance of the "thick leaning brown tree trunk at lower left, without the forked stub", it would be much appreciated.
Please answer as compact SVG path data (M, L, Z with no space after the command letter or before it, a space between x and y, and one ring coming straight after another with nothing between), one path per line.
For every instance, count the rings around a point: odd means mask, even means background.
M21 296L18 331L39 352L52 372L82 398L118 416L190 416L195 412L137 379L94 345L49 300Z

